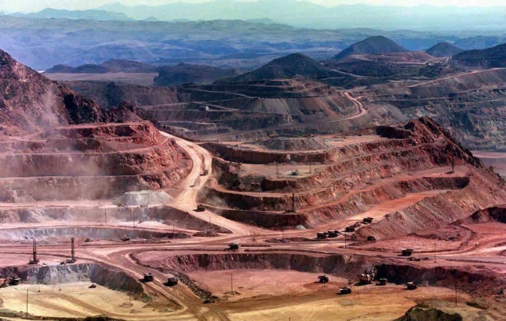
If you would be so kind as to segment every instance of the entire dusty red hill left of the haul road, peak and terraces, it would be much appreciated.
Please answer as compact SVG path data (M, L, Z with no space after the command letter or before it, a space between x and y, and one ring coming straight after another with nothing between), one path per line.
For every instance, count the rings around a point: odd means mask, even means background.
M0 90L4 201L116 197L172 186L191 167L175 141L142 121L152 119L144 110L106 111L3 51Z

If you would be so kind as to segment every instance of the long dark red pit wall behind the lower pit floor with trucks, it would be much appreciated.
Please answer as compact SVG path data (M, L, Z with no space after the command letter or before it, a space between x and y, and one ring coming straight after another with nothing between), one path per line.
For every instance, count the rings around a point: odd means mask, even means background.
M415 282L422 285L455 287L468 293L491 292L506 282L496 275L481 274L446 267L424 268L407 264L394 264L385 258L371 258L359 255L326 255L306 253L259 252L226 254L185 254L168 256L163 260L150 262L149 267L160 270L176 269L183 272L218 271L238 269L280 269L310 273L325 272L329 275L357 279L357 274L378 268L378 277L388 282L405 284ZM315 276L316 280L316 276Z

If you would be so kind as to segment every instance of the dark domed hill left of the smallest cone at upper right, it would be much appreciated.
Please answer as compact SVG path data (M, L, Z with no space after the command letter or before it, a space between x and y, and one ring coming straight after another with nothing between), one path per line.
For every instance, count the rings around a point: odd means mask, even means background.
M376 35L368 37L361 42L351 45L339 54L334 56L334 59L343 59L351 55L360 54L383 54L390 52L408 52L406 48L397 45L392 39Z

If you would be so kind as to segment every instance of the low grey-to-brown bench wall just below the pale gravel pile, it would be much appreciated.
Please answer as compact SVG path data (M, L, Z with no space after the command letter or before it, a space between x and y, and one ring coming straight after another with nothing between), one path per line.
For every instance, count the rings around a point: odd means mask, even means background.
M173 218L180 228L192 230L209 229L209 222L200 220L187 212L177 210L168 206L157 206L150 208L131 208L131 207L112 207L107 208L107 222L126 222L132 221L133 214L138 219L141 216L147 216L151 220L161 220L167 225L167 229L172 228ZM94 222L96 224L105 223L105 209L86 208L86 207L51 207L44 209L3 209L0 210L0 223L43 223L48 220L58 220L67 222ZM211 225L212 231L219 233L230 233L228 229L218 225Z

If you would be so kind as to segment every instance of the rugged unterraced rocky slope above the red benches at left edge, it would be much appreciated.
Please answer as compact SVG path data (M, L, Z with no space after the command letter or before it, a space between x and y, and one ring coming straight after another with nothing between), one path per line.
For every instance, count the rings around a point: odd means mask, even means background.
M13 135L106 120L104 110L0 50L0 124Z

